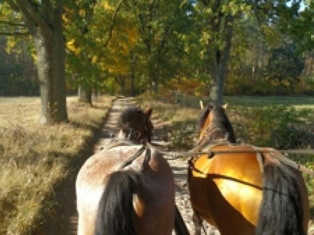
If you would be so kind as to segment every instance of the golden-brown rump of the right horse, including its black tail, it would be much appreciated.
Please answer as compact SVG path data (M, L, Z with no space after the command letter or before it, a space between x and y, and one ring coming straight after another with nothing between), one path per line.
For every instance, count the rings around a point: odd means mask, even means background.
M307 228L308 211L302 208L308 208L308 204L301 173L262 153L268 149L259 148L260 153L257 149L251 145L219 145L210 150L228 153L200 156L189 176L194 210L219 227L222 234L230 233L227 224L242 224L251 231L247 234L254 233L256 226L256 235L303 235L300 231ZM219 214L228 214L230 222L224 224Z

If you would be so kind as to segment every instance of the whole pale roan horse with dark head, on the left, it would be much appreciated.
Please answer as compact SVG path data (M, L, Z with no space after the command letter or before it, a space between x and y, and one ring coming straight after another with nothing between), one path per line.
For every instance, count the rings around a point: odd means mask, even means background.
M105 146L81 167L76 182L78 235L171 234L173 173L155 148L139 145L151 141L151 113L126 109L119 121L123 140Z

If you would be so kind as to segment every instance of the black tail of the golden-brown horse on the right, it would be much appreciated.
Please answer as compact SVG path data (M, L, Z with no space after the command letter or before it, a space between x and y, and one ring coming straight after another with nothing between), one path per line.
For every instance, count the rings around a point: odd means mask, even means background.
M256 235L306 235L296 175L285 165L267 164Z

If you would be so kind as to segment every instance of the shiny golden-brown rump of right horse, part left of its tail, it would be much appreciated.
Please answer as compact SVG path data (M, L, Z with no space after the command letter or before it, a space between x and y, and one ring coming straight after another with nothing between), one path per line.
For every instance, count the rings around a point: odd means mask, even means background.
M251 146L221 145L210 150L248 151ZM222 234L253 234L262 199L262 173L256 153L202 155L190 179L193 208ZM225 230L225 231L224 231Z

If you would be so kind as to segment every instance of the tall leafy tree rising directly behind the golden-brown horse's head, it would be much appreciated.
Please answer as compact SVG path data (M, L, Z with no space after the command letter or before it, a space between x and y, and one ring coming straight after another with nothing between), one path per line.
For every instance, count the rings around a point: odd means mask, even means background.
M196 21L201 24L201 40L208 59L207 71L213 81L212 99L223 102L227 63L232 48L235 22L245 17L257 18L260 27L278 22L279 18L293 19L297 14L295 6L300 0L195 0ZM296 9L296 10L295 10Z

